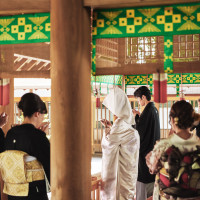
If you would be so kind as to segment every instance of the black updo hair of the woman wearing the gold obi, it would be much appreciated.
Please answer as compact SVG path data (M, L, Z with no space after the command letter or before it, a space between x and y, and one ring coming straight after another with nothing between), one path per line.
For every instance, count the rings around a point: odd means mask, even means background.
M24 94L18 104L18 108L23 111L24 117L31 117L35 112L47 113L45 103L34 93Z

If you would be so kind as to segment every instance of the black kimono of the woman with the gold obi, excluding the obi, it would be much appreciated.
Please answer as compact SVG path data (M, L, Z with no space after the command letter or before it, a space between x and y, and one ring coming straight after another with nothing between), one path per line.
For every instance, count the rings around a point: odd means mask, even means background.
M41 162L50 182L50 143L46 134L32 124L11 128L5 138L6 150L19 150ZM9 200L47 200L45 180L29 183L28 197L8 196Z

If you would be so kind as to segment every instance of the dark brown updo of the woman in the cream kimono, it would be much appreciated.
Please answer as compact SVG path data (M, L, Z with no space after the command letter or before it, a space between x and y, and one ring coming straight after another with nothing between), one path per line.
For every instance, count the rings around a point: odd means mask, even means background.
M173 104L169 117L174 119L175 125L180 129L192 127L195 120L195 112L190 103L185 100Z

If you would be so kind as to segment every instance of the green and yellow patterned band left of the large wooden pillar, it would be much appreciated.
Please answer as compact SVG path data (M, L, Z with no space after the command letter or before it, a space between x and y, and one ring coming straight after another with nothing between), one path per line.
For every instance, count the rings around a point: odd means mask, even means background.
M0 17L0 44L50 42L50 13Z

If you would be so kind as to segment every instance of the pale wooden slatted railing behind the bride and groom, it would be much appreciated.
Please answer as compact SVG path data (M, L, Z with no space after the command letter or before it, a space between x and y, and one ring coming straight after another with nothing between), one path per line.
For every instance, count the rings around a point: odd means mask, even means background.
M186 96L185 99L189 101L195 109L197 109L197 100L199 96ZM104 131L104 127L100 123L100 119L107 119L113 121L112 113L102 105L104 97L100 99L100 107L96 108L96 99L92 98L92 147L93 153L101 153L101 140ZM161 127L161 138L167 138L171 126L169 125L169 112L175 101L178 101L179 97L168 97L168 102L165 104L156 104L156 107L159 111L160 117L160 127ZM133 98L129 97L131 106L136 110L142 111L142 108L139 106L138 102Z

